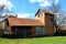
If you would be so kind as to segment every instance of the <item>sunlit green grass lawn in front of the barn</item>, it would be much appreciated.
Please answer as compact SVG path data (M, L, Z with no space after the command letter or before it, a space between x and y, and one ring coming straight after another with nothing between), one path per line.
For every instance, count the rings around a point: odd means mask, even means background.
M1 38L0 44L66 44L66 36Z

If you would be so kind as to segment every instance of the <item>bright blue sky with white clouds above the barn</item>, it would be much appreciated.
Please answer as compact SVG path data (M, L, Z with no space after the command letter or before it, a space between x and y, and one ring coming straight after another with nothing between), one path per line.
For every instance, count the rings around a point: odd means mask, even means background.
M18 14L18 18L34 18L38 9L45 9L54 2L59 3L62 10L66 12L66 0L0 0L7 9Z

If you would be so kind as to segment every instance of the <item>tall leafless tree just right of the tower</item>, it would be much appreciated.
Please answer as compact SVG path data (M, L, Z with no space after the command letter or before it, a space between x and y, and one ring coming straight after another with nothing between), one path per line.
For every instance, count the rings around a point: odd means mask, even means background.
M58 26L61 25L59 21L63 19L63 11L59 3L52 3L51 7L48 7L50 10L54 13L54 24L56 32L58 30Z

